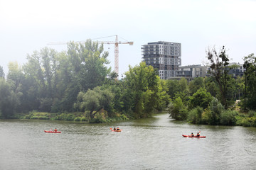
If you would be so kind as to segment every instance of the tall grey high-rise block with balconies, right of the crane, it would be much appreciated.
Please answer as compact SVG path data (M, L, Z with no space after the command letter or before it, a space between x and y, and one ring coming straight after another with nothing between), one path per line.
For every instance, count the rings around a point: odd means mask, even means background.
M142 45L143 61L146 65L158 69L160 79L176 77L178 66L181 65L181 43L149 42Z

